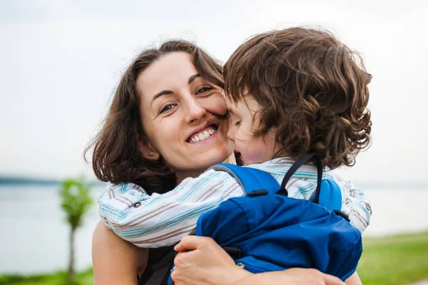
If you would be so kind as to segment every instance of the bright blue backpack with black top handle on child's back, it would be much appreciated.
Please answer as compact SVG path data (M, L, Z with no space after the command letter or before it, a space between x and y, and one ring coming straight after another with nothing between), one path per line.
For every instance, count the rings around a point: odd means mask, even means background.
M287 197L288 180L312 159L317 166L314 195L310 201ZM251 167L220 164L212 168L233 175L247 195L228 199L202 214L196 235L212 237L235 264L253 273L313 268L342 281L355 272L362 254L361 234L340 211L342 194L337 183L322 180L317 155L297 160L281 185L269 173ZM173 257L169 250L146 269L150 273L145 272L147 278L138 284L166 284ZM173 284L170 278L168 284Z

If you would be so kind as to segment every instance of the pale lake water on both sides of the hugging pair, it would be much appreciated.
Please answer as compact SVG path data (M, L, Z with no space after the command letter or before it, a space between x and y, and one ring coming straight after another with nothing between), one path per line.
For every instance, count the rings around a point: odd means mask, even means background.
M428 229L428 190L366 190L372 221L365 237ZM94 202L97 193L93 192ZM76 232L76 267L91 266L96 204ZM0 274L34 274L67 268L68 225L58 187L0 186Z

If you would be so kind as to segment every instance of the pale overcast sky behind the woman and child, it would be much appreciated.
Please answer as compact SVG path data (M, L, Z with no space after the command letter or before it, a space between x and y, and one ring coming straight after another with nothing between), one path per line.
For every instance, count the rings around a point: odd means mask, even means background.
M373 75L372 146L340 172L428 185L427 14L423 0L0 0L0 176L91 177L83 149L147 46L184 38L224 62L256 33L305 25L335 33Z

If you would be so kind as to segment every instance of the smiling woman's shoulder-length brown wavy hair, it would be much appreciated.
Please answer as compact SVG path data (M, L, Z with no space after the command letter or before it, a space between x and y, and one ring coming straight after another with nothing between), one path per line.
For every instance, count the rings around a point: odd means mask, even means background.
M149 193L166 192L175 187L175 175L161 160L148 160L141 153L147 134L141 123L138 75L168 53L185 52L193 58L200 76L224 88L223 67L195 44L183 40L166 41L138 55L123 74L103 127L84 155L93 147L92 166L96 177L113 184L133 182Z

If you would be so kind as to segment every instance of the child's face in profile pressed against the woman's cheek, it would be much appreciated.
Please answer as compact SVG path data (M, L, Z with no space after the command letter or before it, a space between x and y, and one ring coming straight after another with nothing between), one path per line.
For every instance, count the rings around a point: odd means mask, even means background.
M255 130L263 128L260 125L261 105L251 95L238 103L226 100L230 112L228 138L235 142L235 152L240 152L244 165L271 160L275 154L275 130L269 130L266 135L254 137Z

